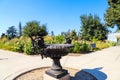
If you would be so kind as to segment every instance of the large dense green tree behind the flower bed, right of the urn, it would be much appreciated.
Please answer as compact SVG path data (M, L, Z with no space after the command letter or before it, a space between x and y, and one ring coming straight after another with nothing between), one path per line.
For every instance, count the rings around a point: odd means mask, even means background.
M100 22L97 15L82 15L81 19L81 37L84 40L104 40L108 33L107 27Z

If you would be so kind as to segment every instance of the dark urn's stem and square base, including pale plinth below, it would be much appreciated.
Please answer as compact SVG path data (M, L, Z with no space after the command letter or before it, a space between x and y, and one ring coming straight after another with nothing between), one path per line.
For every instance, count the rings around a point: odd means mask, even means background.
M69 80L70 75L67 70L62 69L60 64L61 57L53 57L51 69L44 74L44 80Z

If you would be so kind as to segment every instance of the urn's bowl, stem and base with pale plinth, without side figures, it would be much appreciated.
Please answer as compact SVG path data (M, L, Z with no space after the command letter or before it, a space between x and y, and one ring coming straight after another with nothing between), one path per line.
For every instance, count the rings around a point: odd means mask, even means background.
M69 80L70 76L67 70L63 69L60 64L62 56L68 54L68 48L71 44L52 44L45 49L46 57L53 60L51 69L45 72L44 80ZM51 79L50 79L51 78Z

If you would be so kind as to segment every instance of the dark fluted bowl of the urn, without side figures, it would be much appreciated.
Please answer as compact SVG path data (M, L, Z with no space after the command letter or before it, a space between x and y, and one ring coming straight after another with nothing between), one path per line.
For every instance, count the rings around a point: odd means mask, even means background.
M69 48L73 47L72 44L49 44L46 45L44 50L45 57L61 57L69 52Z

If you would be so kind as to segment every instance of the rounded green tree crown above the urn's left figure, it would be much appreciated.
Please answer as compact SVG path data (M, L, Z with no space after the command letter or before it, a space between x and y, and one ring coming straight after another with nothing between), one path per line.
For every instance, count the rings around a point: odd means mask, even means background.
M27 35L29 37L45 36L48 34L46 25L40 26L40 23L37 21L27 22L23 32L24 32L24 35Z

